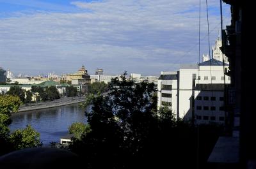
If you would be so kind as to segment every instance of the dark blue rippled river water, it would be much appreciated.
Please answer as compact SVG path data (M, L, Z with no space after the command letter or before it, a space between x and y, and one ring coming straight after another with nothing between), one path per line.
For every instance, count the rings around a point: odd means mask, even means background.
M30 124L40 133L44 146L50 142L60 142L60 137L68 134L68 126L73 122L87 123L83 108L79 103L63 107L33 110L12 114L11 132L15 129L26 128Z

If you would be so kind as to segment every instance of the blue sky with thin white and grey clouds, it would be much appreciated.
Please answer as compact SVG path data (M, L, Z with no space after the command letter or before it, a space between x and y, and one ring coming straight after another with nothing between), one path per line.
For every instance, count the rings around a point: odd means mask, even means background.
M0 67L15 75L124 71L160 75L209 54L206 1L0 0ZM208 0L210 45L220 1ZM230 6L223 3L223 26Z

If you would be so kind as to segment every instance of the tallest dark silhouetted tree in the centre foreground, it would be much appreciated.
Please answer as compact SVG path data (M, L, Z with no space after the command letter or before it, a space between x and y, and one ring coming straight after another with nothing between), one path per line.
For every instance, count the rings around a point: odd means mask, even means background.
M151 101L154 84L135 84L126 75L112 80L108 96L88 97L85 104L92 105L92 111L86 112L86 117L92 131L70 145L77 154L92 159L90 165L95 168L102 167L93 163L98 159L107 168L131 165L130 160L144 156L150 138L157 133L157 116ZM88 154L83 154L85 149Z

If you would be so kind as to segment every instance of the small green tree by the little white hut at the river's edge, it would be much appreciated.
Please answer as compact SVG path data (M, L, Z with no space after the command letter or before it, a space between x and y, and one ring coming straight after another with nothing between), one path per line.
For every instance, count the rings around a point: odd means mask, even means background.
M74 134L74 137L80 139L83 134L89 133L91 131L89 124L84 124L83 122L74 122L68 128L68 133Z

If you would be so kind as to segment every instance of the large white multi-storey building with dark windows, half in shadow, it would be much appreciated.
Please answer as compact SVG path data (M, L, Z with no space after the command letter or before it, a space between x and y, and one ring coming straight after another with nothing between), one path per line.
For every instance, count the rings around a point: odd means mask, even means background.
M227 76L225 84L230 84ZM167 102L176 117L196 118L198 123L223 123L223 62L211 59L200 64L182 64L179 71L161 72L157 95L158 107Z

